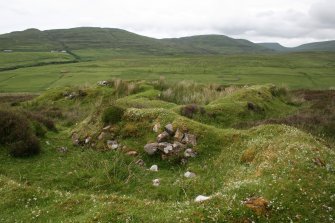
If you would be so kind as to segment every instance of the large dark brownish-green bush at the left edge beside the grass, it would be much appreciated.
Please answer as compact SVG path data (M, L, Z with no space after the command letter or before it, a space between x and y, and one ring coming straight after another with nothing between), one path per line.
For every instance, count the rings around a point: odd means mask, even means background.
M0 144L15 157L39 153L40 144L28 119L13 111L0 110Z

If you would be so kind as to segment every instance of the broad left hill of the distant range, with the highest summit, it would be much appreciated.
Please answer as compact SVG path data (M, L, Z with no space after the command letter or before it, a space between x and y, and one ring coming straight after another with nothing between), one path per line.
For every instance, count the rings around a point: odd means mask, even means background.
M159 40L121 29L73 28L40 31L28 29L0 35L0 49L50 51L98 48L124 48L156 51L165 48Z

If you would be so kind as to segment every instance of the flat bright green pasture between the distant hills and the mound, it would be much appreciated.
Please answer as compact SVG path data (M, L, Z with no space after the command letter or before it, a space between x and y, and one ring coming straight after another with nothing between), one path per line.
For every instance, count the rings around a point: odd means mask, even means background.
M291 89L335 87L335 53L289 53L234 56L144 56L108 50L74 51L82 62L26 67L0 72L1 92L43 92L99 80L193 80L224 85L284 85ZM9 55L9 56L7 56ZM1 66L71 60L67 54L0 54ZM20 61L20 62L18 62Z

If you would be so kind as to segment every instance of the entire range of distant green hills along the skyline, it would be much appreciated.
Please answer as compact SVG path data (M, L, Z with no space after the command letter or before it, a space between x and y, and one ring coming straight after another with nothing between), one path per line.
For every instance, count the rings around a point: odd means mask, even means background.
M277 43L253 43L224 35L199 35L155 39L122 29L80 27L40 31L27 29L0 35L0 50L52 51L83 49L116 49L129 53L174 54L239 54L286 51L335 51L335 41L286 48Z

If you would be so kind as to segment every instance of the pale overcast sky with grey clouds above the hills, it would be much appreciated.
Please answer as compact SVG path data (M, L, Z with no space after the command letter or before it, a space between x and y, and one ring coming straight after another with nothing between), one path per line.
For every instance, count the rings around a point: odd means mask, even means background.
M0 0L0 33L96 26L296 46L335 39L335 0Z

